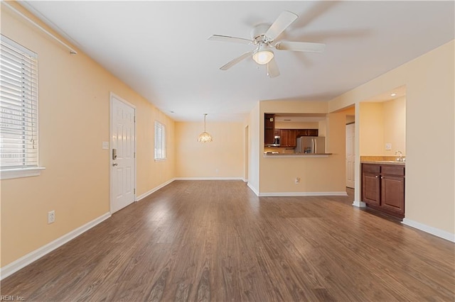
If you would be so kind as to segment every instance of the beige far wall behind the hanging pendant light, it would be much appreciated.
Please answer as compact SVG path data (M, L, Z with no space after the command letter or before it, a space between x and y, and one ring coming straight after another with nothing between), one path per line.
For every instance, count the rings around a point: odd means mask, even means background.
M213 142L198 142L204 123L176 122L176 177L243 178L245 128L243 123L207 121Z

